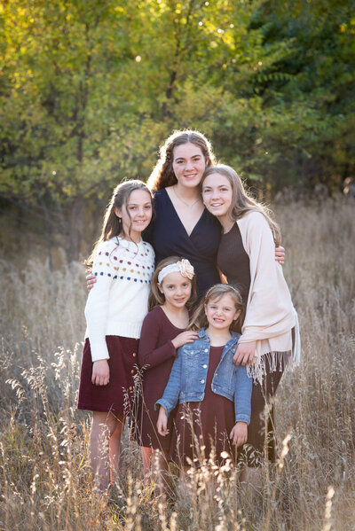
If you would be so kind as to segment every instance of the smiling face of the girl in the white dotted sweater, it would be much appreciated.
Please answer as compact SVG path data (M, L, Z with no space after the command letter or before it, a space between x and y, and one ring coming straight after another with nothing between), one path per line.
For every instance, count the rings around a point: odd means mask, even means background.
M133 190L122 208L114 208L114 213L122 218L122 229L125 236L139 240L152 219L152 198L146 190Z

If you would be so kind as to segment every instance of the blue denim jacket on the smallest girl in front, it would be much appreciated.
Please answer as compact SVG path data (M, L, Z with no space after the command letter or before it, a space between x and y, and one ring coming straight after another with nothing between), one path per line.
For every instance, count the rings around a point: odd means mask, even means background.
M212 391L234 402L235 422L250 422L252 379L248 378L244 366L233 364L233 355L241 334L232 332L226 343L221 361L212 379ZM155 407L162 405L167 415L177 402L201 402L205 395L206 377L209 368L210 340L202 328L199 339L186 343L177 350L170 378L162 398Z

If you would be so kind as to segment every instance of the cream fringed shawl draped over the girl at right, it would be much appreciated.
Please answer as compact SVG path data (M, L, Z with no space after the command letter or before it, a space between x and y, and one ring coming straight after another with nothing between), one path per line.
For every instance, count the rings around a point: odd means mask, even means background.
M298 319L282 266L275 261L272 230L264 215L251 211L236 223L250 266L247 311L239 342L256 341L254 362L248 371L255 380L262 382L266 356L271 371L281 369L285 365L285 358L291 357L292 350L294 363L299 363Z

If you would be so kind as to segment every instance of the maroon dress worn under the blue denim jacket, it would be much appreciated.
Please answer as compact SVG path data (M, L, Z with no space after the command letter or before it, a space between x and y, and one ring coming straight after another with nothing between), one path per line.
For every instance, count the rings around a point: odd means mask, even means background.
M223 349L223 346L209 349L203 401L185 402L177 408L176 430L170 448L170 460L177 465L199 466L204 458L209 459L212 449L216 451L214 461L219 465L225 462L221 457L222 452L228 452L231 457L234 455L235 446L229 439L235 425L234 403L225 396L213 393L211 388Z

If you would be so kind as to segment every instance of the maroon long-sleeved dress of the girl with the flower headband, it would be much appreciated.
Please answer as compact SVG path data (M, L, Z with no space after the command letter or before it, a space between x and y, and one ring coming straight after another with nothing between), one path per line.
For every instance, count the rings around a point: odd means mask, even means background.
M156 429L159 411L154 406L164 393L172 364L177 357L177 350L171 340L181 332L185 330L174 326L161 307L149 312L143 322L138 351L139 365L143 369L143 384L133 435L140 446L170 449L175 411L170 415L170 435L162 437Z

